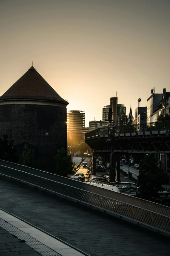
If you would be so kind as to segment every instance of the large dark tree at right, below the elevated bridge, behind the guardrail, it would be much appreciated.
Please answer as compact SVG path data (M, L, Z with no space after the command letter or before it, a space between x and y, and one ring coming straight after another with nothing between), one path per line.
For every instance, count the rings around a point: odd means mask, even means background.
M157 197L158 192L163 190L162 185L168 182L168 174L157 167L157 162L154 154L148 154L139 163L137 183L143 199L150 200Z

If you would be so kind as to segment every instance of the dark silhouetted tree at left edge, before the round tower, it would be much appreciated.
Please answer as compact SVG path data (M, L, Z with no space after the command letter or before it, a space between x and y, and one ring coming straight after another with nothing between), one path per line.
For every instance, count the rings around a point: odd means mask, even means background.
M0 159L8 162L17 162L16 148L13 148L14 141L8 141L8 135L4 134L3 139L0 138Z

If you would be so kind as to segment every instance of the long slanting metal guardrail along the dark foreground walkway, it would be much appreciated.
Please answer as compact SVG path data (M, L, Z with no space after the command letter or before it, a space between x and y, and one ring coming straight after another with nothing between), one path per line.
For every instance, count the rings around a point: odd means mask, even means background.
M21 167L25 166L21 165ZM30 169L30 173L0 165L0 174L170 233L169 207L58 175L49 174L33 168L26 168L27 170ZM37 171L41 176L31 173L37 173ZM58 180L63 178L64 183L42 177L48 174Z

